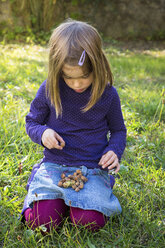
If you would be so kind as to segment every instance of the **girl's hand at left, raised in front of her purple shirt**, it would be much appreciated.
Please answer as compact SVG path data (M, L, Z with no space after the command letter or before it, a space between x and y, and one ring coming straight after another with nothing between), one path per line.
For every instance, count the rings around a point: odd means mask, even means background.
M65 141L53 129L46 129L42 134L42 144L48 149L56 148L62 150L65 146Z

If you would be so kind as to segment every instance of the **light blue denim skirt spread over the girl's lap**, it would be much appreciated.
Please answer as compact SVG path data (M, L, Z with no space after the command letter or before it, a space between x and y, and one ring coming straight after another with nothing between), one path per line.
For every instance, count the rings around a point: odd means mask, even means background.
M88 178L84 188L76 192L71 187L61 188L58 182L61 174L73 174L77 169ZM54 163L42 163L33 168L28 181L28 193L24 201L23 212L33 207L33 202L46 199L63 199L65 204L84 210L96 210L105 216L121 213L117 197L112 193L110 176L107 171L86 166L68 167Z

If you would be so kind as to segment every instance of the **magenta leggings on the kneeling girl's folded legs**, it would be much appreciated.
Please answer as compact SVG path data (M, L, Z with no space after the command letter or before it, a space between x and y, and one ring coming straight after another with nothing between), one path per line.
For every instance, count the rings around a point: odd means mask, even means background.
M24 216L32 229L44 224L49 232L51 227L56 228L60 225L68 209L62 199L41 200L34 203L33 209L26 209ZM73 224L86 225L92 231L97 231L106 224L105 216L95 210L70 207L70 218Z

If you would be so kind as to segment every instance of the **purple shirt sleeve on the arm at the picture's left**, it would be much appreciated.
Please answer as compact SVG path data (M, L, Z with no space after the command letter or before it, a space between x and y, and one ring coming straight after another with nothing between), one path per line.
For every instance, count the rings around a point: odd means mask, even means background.
M42 134L49 128L45 125L49 113L50 108L46 98L46 87L44 82L32 101L30 112L26 116L26 132L31 140L39 145L43 145L41 142Z

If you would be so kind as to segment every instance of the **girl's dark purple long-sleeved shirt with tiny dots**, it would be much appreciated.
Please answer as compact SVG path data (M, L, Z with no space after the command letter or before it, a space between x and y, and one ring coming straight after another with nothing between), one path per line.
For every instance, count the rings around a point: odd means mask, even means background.
M56 118L55 109L46 97L46 81L26 116L26 131L32 141L42 145L43 132L52 128L66 143L63 150L45 148L42 162L100 168L98 162L109 150L120 160L126 145L126 128L116 89L108 85L95 106L83 113L81 109L89 101L91 86L77 93L60 79L59 87L62 116ZM109 141L107 133L110 133Z

